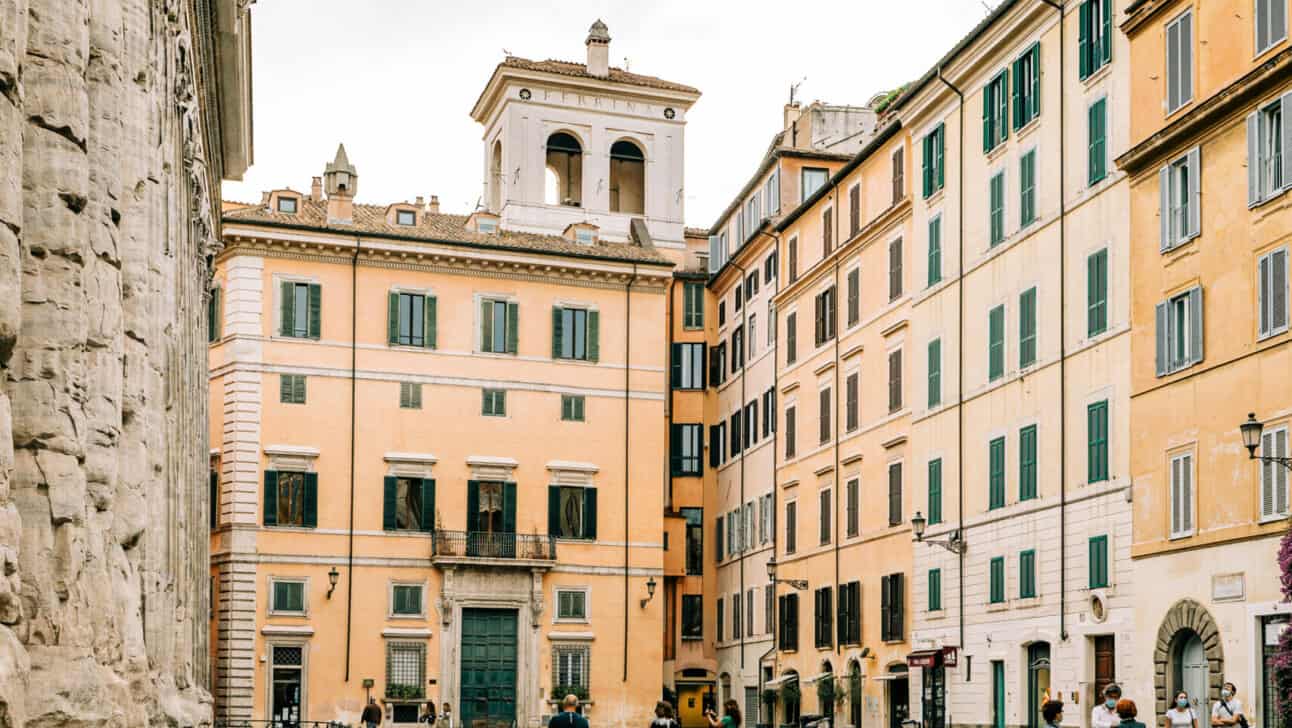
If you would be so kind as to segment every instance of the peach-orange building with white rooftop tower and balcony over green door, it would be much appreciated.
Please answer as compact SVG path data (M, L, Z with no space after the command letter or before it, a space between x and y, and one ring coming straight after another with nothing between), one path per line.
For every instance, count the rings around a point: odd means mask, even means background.
M355 203L344 149L309 193L226 204L217 719L354 723L371 696L393 724L444 701L537 727L572 692L599 724L649 722L664 595L703 590L665 570L686 541L665 515L703 503L665 469L698 92L609 69L609 40L499 65L473 114L506 173L469 216Z

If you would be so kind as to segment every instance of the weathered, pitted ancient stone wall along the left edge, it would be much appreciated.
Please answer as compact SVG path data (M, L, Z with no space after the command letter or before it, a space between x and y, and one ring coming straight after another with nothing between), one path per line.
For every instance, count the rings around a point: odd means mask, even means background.
M0 0L0 728L199 725L196 0Z

